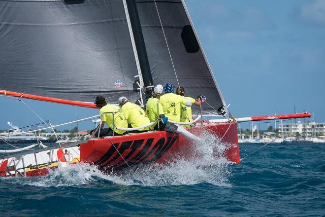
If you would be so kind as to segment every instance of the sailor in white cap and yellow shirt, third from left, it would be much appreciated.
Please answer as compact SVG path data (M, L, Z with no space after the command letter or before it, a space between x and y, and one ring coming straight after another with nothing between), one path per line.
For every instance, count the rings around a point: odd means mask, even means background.
M159 98L162 94L163 87L161 84L158 84L154 88L154 93L151 98L148 99L146 104L147 115L149 116L150 122L155 122L160 118L159 128L162 130L165 124L168 121L168 118L164 115L162 104L159 101ZM158 130L158 123L155 126L152 126L151 129Z

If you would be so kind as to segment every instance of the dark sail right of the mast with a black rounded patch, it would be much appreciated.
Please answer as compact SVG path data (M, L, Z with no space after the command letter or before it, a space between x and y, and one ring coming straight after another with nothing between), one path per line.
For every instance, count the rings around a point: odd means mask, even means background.
M172 83L185 87L186 96L206 96L203 109L213 111L225 105L214 76L196 38L181 0L137 0L137 9L154 84ZM168 47L162 31L165 33ZM213 108L212 108L213 107Z

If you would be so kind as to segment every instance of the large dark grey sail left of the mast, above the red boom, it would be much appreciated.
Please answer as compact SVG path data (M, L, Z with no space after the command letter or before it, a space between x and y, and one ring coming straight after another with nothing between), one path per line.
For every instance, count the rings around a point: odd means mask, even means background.
M0 89L116 103L138 75L122 0L0 0Z

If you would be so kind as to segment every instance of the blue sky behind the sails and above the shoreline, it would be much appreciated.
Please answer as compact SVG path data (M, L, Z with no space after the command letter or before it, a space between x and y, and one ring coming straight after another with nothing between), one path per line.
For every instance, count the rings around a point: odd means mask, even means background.
M185 2L235 117L292 113L295 105L325 122L325 0ZM76 119L76 107L24 102L53 124ZM0 129L7 121L40 122L17 99L0 97L0 105ZM78 108L78 117L97 112ZM92 127L91 121L79 124L81 130Z

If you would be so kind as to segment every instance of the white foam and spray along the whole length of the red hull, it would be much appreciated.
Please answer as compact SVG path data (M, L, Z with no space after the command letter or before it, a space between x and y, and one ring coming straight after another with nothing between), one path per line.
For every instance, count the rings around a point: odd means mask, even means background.
M142 165L135 170L127 169L123 173L109 175L101 173L96 166L75 164L50 171L44 177L24 178L22 184L46 187L109 181L119 185L166 186L205 182L229 186L228 178L231 176L229 162L224 157L218 159L214 157L215 152L221 155L229 144L221 144L210 134L202 134L201 138L205 138L205 142L194 147L200 153L198 159L179 158L169 165Z

